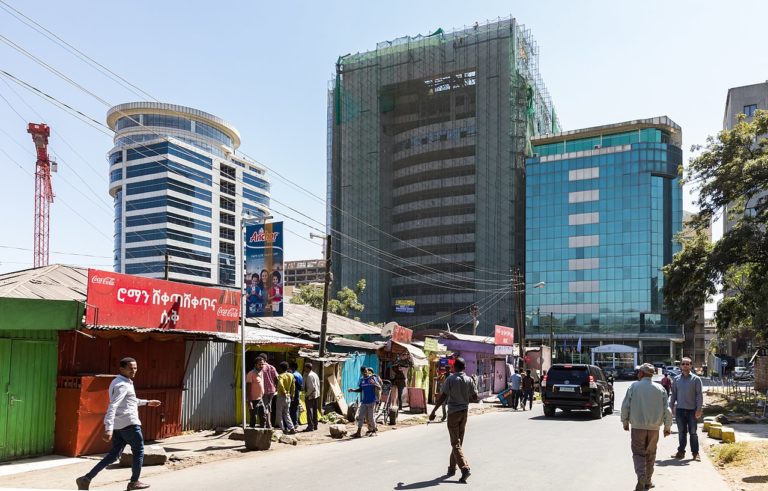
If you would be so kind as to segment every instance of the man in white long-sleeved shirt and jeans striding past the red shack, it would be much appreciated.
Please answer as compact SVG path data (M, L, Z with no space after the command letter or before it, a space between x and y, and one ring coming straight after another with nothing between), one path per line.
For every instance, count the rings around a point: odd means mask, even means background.
M144 435L141 433L139 406L157 407L158 400L139 399L133 387L133 379L139 371L134 358L120 360L119 375L109 384L109 406L104 415L104 433L101 439L112 442L112 449L86 475L75 480L77 489L88 489L91 481L112 462L116 461L126 445L131 446L133 463L128 490L147 489L149 484L139 481L141 466L144 463Z

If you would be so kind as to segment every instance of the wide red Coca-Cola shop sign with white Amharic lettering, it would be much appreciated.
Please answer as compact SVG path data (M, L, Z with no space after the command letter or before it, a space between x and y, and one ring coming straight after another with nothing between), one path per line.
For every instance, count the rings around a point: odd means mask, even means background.
M240 292L88 270L92 326L237 333Z

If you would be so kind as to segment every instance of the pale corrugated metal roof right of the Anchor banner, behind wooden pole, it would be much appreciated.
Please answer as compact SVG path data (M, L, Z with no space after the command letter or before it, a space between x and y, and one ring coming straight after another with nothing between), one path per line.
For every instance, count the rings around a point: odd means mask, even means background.
M320 321L323 311L309 305L283 304L283 317L249 318L248 322L294 334L320 334ZM381 334L381 328L336 314L328 314L328 334L354 336L360 334Z

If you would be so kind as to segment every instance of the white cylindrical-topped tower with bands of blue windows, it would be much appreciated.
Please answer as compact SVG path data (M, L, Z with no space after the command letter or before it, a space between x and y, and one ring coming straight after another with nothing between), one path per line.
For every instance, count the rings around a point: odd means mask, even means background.
M235 154L240 134L211 114L136 102L107 113L115 131L109 191L114 269L210 285L239 285L240 219L269 213L266 169Z

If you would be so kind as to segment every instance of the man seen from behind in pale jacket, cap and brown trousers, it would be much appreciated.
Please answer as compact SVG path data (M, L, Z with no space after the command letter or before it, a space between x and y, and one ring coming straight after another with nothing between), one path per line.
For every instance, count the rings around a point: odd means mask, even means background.
M630 431L632 462L635 464L637 484L635 491L654 487L653 464L656 462L656 447L659 443L659 428L664 426L664 437L672 428L672 413L667 406L664 388L653 383L656 368L650 363L640 366L638 381L627 389L621 403L621 423L624 431ZM631 428L630 428L631 427Z

